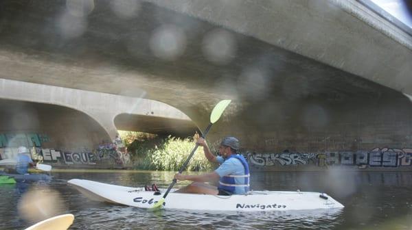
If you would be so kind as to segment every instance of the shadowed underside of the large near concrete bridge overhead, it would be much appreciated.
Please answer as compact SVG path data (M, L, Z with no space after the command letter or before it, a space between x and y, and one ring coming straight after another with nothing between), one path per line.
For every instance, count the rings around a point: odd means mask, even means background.
M383 87L370 81L232 31L236 56L229 64L211 63L202 54L203 38L219 27L151 3L124 21L101 1L77 37L65 37L56 25L65 14L65 1L1 4L0 76L6 79L144 96L183 108L211 105L223 97L255 103L382 94ZM163 60L150 50L150 38L170 23L184 29L186 46L176 60Z

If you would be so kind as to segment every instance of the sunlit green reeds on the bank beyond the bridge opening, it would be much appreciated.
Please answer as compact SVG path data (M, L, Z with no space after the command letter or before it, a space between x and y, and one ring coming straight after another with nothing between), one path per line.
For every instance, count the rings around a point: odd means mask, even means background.
M174 138L119 131L128 148L133 168L146 170L179 170L194 148L193 138ZM211 170L212 165L198 148L185 170Z

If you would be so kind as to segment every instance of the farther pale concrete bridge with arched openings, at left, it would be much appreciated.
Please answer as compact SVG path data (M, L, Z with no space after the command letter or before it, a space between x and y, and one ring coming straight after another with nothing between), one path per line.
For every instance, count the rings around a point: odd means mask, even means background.
M197 130L179 110L148 99L9 79L0 79L0 98L0 132L47 133L53 138L43 148L93 149L117 129L174 136Z

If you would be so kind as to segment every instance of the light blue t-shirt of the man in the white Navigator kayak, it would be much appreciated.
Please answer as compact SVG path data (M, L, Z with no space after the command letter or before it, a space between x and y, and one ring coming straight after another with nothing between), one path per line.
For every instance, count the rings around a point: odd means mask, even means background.
M215 170L219 177L224 177L227 175L244 175L244 167L242 162L235 157L231 157L227 160L225 158L217 156L220 166ZM235 177L237 184L244 184L244 177ZM244 190L244 187L236 187L233 194L245 194L247 191Z

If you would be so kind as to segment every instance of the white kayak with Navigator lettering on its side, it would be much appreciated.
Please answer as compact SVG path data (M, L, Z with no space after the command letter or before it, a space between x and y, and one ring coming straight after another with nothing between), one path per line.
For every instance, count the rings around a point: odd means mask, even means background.
M165 190L146 192L144 188L115 186L108 183L71 179L67 183L93 201L104 201L133 207L150 208ZM198 211L290 211L309 209L341 209L343 205L328 194L319 192L252 191L246 195L214 196L170 192L165 209Z

